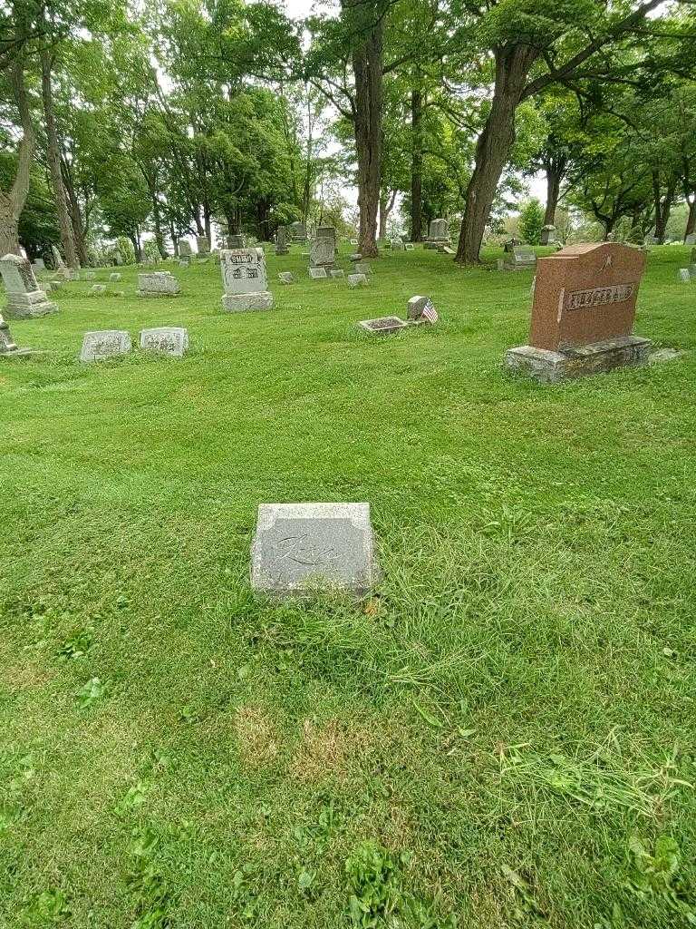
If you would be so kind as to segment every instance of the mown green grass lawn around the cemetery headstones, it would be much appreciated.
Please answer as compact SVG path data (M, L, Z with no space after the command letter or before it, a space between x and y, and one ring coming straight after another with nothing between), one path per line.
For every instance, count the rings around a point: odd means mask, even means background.
M636 327L684 354L561 386L501 371L531 273L422 250L358 291L271 255L267 312L211 264L12 322L49 354L0 363L0 925L696 921L688 252ZM437 327L356 330L413 294ZM185 359L77 361L164 324ZM378 596L251 596L286 501L371 504Z

